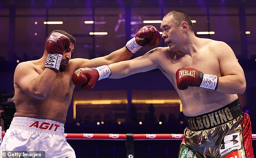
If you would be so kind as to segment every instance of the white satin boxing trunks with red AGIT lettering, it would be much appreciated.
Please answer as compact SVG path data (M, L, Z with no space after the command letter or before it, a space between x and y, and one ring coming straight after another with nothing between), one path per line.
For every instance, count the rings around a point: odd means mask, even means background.
M45 158L75 158L64 136L64 124L48 119L14 117L0 150L45 151Z

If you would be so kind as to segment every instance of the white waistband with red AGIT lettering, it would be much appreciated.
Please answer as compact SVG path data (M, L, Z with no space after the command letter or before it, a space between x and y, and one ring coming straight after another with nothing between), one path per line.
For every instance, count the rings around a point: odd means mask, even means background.
M38 130L41 132L64 135L64 124L49 119L14 117L9 129Z

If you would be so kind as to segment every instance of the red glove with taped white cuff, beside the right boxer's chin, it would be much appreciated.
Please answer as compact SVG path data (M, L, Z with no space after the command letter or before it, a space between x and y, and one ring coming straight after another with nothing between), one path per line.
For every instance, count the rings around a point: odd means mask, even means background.
M126 43L127 49L132 53L136 53L145 45L157 46L161 41L161 35L157 28L151 25L144 26L136 33L135 37Z

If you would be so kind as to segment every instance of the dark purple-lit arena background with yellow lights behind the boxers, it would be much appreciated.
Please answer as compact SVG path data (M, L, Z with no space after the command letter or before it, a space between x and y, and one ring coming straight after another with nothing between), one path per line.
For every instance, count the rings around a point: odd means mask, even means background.
M38 59L54 29L72 34L72 58L107 55L144 25L160 24L171 10L195 20L196 36L231 46L244 69L247 89L239 95L256 133L256 1L255 0L0 0L0 99L5 130L15 109L13 73L18 63ZM44 24L58 21L62 24ZM93 22L93 23L92 23ZM90 35L101 32L103 35ZM106 34L107 35L104 35ZM197 34L207 32L209 34ZM214 32L214 33L213 33ZM158 45L164 47L162 40ZM153 47L143 47L132 58ZM178 95L168 79L153 70L124 79L104 79L93 91L75 88L65 133L181 134L186 127ZM124 158L126 142L68 140L78 158ZM175 158L180 140L135 141L136 158ZM256 152L256 141L253 141Z

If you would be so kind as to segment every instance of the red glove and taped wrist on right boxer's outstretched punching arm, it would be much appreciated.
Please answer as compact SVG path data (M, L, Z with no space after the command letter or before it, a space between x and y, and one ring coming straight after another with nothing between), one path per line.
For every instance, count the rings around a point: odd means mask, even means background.
M103 65L96 68L78 68L72 75L72 81L75 86L91 90L97 81L108 78L111 75L110 68L107 65Z

